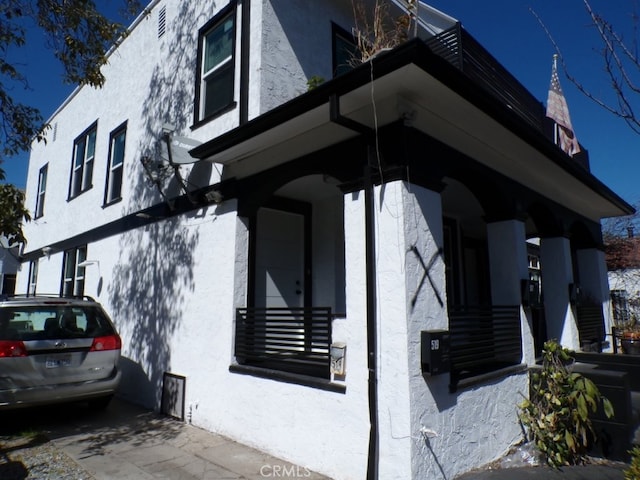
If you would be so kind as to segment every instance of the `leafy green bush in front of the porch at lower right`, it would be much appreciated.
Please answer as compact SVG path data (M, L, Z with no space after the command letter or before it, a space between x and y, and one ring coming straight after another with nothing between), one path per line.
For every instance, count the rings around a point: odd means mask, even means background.
M589 414L602 405L613 416L611 402L595 384L571 371L571 352L556 341L544 344L542 368L531 375L530 398L520 405L520 421L554 467L584 463L595 432Z

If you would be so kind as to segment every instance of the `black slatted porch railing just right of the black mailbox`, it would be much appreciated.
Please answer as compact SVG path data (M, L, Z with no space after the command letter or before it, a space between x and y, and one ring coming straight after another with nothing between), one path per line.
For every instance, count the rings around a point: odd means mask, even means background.
M449 307L451 384L522 362L520 306Z

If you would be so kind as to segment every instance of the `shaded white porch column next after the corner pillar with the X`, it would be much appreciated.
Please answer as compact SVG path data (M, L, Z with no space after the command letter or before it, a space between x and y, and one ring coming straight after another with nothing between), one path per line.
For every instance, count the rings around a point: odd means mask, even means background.
M494 305L522 305L522 281L529 278L524 222L504 220L487 224L491 301ZM522 361L535 363L531 318L520 308Z

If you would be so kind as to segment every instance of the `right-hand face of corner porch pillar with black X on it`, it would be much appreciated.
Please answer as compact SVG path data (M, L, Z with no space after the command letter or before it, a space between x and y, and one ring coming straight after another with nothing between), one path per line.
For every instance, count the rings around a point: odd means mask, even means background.
M403 284L404 298L398 300L404 306L404 343L408 347L407 358L400 360L408 367L410 416L404 429L396 429L394 434L419 439L423 436L423 428L436 432L439 435L437 441L436 438L429 442L408 441L412 475L404 478L441 478L442 472L432 459L435 456L445 464L452 463L447 455L455 456L455 452L446 449L443 439L452 438L455 427L439 418L434 397L449 396L450 378L448 374L426 378L422 375L421 331L449 329L442 199L436 190L407 183L399 186L402 187L403 223L398 223L398 228L402 228L402 236L399 237L402 246L397 251L401 274L398 280ZM437 185L433 188L437 189ZM387 215L390 220L397 217L393 211L388 211ZM396 409L401 408L393 397L390 400ZM395 413L397 415L397 410ZM389 421L395 423L395 417ZM392 477L403 478L399 475L388 478Z

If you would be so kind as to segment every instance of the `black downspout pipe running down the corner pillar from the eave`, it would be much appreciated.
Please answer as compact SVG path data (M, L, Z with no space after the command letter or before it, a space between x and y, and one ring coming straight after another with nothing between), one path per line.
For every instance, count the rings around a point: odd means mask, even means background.
M369 395L369 453L367 457L367 480L378 480L380 460L379 421L378 421L378 368L377 368L377 291L376 291L376 248L375 248L375 202L371 170L375 165L373 138L375 131L355 120L342 116L340 98L329 98L329 115L332 122L363 134L367 138L367 163L364 166L364 205L365 205L365 259L366 259L366 295L367 295L367 369Z

